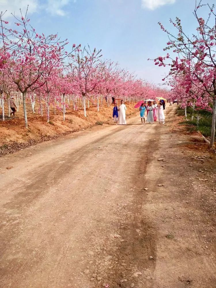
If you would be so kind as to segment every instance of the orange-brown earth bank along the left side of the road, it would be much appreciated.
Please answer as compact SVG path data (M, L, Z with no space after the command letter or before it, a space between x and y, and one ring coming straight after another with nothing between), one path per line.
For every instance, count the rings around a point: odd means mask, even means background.
M136 113L132 105L126 105L128 117ZM61 111L56 111L57 115L52 115L49 123L46 115L41 117L29 112L28 129L25 129L22 111L19 111L15 118L7 117L5 122L0 122L0 156L95 125L113 124L112 110L113 106L107 107L106 104L100 107L99 112L96 107L91 106L87 108L87 117L84 117L83 110L67 109L65 121Z

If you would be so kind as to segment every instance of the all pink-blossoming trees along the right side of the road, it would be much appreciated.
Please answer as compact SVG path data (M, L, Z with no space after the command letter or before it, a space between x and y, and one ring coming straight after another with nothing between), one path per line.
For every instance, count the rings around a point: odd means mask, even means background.
M193 106L200 110L212 112L211 141L210 147L214 145L215 120L216 120L216 14L215 5L203 4L195 1L194 16L197 29L191 36L183 30L181 20L176 17L175 22L170 23L176 29L176 34L170 33L160 24L161 29L168 36L167 47L164 51L172 50L166 56L154 59L155 65L170 66L170 72L166 77L168 84L172 87L172 97L182 101L185 107L185 118L187 120L186 108ZM202 8L208 8L209 13L206 20L199 16ZM165 80L165 78L163 79ZM191 126L199 126L199 117L196 121L188 121Z

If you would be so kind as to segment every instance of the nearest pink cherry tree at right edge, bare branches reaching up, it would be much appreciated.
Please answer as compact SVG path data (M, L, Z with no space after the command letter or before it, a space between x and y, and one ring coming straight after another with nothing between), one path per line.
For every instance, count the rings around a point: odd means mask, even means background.
M207 19L200 17L199 11L202 7L209 8ZM170 19L170 23L175 27L177 33L170 33L160 24L161 29L168 36L167 47L164 51L173 49L173 57L169 53L166 56L156 58L155 65L170 66L168 76L177 74L183 76L182 87L185 87L185 94L192 91L192 86L198 90L209 94L213 105L212 109L212 130L210 147L214 145L215 122L216 122L216 14L215 5L202 4L202 0L195 1L194 17L197 22L196 33L188 36L183 30L181 20L177 17L175 22ZM168 60L166 62L166 60ZM165 78L163 79L165 80ZM206 106L208 103L206 103Z

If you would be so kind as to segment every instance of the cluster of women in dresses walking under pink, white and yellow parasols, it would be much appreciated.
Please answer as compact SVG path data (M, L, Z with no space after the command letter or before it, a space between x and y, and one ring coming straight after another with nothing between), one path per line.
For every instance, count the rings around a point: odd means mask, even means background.
M163 103L160 101L158 104L156 101L153 103L149 101L149 103L142 103L139 107L140 111L140 118L141 118L141 124L145 124L145 110L147 110L147 123L154 123L156 121L159 121L159 124L165 124L165 116L164 116L164 110Z

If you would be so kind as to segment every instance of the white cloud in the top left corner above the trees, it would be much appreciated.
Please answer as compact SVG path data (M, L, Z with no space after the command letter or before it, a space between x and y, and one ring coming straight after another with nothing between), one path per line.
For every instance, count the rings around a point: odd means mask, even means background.
M11 13L15 14L16 17L19 17L20 9L22 10L22 14L25 14L28 5L28 15L38 10L38 0L0 0L0 12L5 12L7 10L4 18L12 16Z

